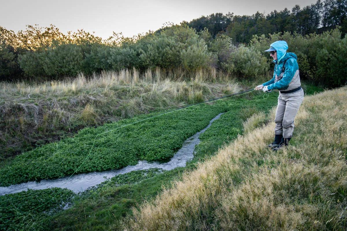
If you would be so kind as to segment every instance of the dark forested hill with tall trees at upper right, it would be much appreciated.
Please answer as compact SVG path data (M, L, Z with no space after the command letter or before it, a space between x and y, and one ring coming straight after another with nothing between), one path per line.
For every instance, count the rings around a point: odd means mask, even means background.
M271 6L270 6L271 7ZM257 11L253 15L234 15L228 13L211 14L201 16L192 21L185 22L189 27L195 28L197 32L207 28L209 32L226 34L237 43L248 43L253 35L268 35L277 32L298 33L306 35L310 33L321 33L335 26L341 26L342 35L347 31L347 1L346 0L318 0L311 6L301 8L295 5L291 10L287 8L269 14Z

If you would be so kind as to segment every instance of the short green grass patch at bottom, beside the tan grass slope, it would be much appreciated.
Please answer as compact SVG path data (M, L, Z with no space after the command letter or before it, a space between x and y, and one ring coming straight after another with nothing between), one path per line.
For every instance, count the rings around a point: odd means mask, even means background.
M164 171L139 183L105 187L76 201L74 206L54 216L49 230L109 230L117 229L122 217L144 199L154 198L163 187L170 187L178 180L185 168ZM116 223L115 223L116 222ZM115 224L114 224L115 223Z

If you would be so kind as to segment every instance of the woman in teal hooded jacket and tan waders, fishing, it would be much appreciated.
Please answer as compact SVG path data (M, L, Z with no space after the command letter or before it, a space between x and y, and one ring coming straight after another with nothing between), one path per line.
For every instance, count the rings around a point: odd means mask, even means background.
M270 45L266 52L275 63L273 78L257 86L256 90L264 92L278 89L278 104L275 117L275 139L268 146L277 151L287 146L294 130L294 118L304 99L304 91L301 88L299 66L297 56L287 53L288 45L285 41L276 41Z

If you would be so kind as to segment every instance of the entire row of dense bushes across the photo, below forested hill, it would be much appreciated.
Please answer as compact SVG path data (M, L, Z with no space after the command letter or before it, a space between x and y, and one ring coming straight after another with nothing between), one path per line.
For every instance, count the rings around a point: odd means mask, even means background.
M285 40L289 45L288 52L298 56L302 77L327 87L341 86L346 81L347 59L342 54L346 53L347 38L341 38L340 27L306 36L289 32L274 33L269 37L254 35L248 46L235 46L225 34L213 39L207 29L197 33L185 24L171 25L136 39L117 38L117 42L101 41L84 32L75 37L75 40L65 38L62 41L54 37L51 43L37 42L41 46L30 50L18 48L17 51L13 47L11 50L9 39L4 40L6 43L0 41L3 44L0 49L1 75L17 73L18 66L26 76L34 78L133 68L145 71L160 67L188 72L218 68L254 79L270 70L269 54L263 51L272 42ZM28 44L26 49L29 49Z

